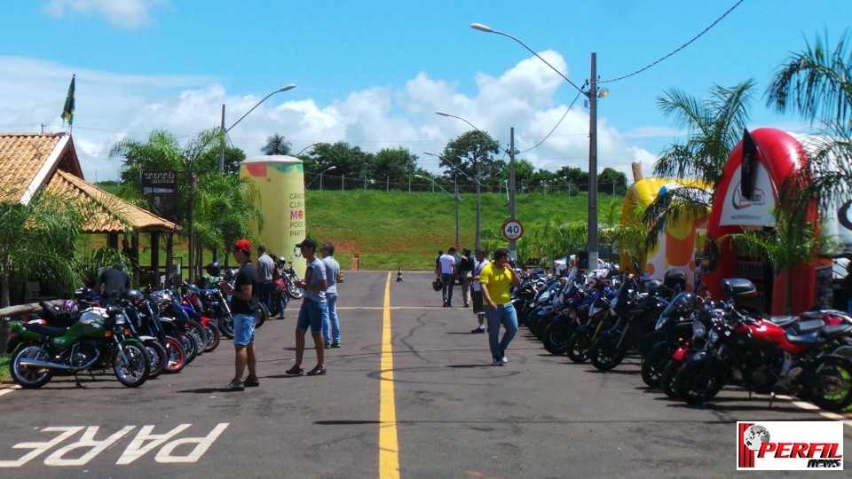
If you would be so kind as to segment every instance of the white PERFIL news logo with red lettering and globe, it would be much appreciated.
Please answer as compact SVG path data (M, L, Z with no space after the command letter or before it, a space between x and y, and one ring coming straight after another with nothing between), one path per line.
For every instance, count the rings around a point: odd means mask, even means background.
M737 422L737 470L843 470L842 421Z

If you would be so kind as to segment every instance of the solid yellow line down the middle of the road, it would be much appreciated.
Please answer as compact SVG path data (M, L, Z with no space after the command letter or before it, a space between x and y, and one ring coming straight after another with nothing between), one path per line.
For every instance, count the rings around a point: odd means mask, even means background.
M390 331L390 275L384 285L382 325L382 373L379 405L379 477L399 477L399 443L397 440L397 404L393 397L393 339Z

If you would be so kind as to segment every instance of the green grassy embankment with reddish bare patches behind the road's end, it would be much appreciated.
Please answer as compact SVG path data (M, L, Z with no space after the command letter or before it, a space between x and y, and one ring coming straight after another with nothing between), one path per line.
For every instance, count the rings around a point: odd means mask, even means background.
M476 195L461 193L459 243L473 249L476 239ZM599 194L601 215L612 196ZM622 197L615 197L620 206ZM362 270L429 271L438 250L455 245L455 201L444 192L308 191L305 200L307 232L321 242L335 244L335 257L344 270L351 269L353 255L360 256ZM499 239L501 226L509 219L506 195L481 194L482 242ZM585 193L568 197L564 192L527 192L516 197L516 216L525 229L534 224L585 222L588 198ZM619 208L620 212L620 208ZM140 263L150 264L148 235L140 236ZM518 242L524 241L524 238ZM106 244L104 235L91 235L92 247ZM160 262L165 263L161 240ZM175 237L174 255L188 263L185 239ZM272 251L272 253L276 253ZM205 255L209 262L212 252Z

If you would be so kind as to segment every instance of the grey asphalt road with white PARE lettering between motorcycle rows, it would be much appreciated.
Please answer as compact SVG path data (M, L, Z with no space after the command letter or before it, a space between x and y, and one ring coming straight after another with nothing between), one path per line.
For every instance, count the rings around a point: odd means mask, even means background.
M395 464L401 477L728 477L736 421L828 420L738 390L688 407L646 389L635 358L597 373L551 356L524 327L509 363L493 367L487 335L469 333L469 309L440 307L431 273L345 279L343 346L326 350L326 376L284 373L300 305L291 302L286 319L257 332L256 389L220 390L233 375L230 342L139 389L107 375L0 389L0 477L375 477ZM305 370L314 364L309 350ZM852 453L848 426L843 444Z

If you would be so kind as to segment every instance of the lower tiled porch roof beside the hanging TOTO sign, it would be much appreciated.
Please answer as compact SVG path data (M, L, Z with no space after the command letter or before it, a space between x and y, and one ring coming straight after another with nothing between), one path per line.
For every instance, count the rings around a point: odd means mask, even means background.
M84 226L86 232L123 232L127 225L140 232L174 231L177 224L145 209L90 185L65 171L57 170L47 185L48 191L78 202L89 219Z

